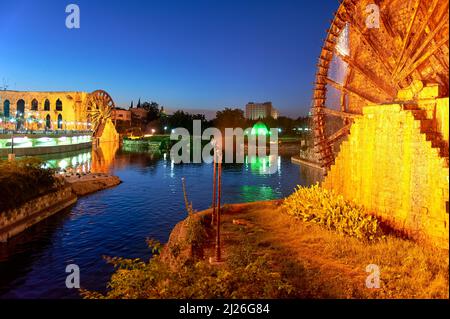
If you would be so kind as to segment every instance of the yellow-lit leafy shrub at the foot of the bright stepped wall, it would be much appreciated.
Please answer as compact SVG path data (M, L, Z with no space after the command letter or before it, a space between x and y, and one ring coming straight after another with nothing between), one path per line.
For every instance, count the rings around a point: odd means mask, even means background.
M332 191L298 186L283 202L284 210L303 221L320 224L340 234L373 241L383 237L378 220Z

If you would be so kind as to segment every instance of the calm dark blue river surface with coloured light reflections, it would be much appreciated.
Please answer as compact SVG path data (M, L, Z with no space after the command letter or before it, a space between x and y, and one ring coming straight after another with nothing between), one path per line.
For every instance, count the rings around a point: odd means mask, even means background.
M86 197L64 212L0 243L0 298L79 298L67 289L69 264L80 267L81 286L104 291L113 271L102 256L150 257L146 238L167 241L186 217L181 178L194 209L211 205L212 164L171 163L169 155L107 150L46 158L50 166L109 171L123 181ZM268 162L275 174L264 174ZM315 183L319 172L292 164L290 156L225 165L223 202L282 198L296 185Z

